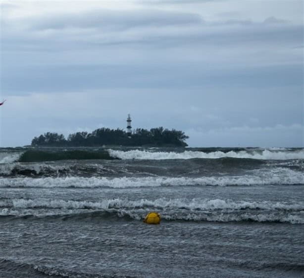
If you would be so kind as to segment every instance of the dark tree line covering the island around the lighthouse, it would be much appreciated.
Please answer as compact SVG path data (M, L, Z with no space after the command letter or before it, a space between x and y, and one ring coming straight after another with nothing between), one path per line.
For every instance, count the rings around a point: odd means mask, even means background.
M186 147L189 137L180 130L168 130L163 127L137 128L132 132L131 138L120 129L98 128L92 133L86 131L70 134L65 139L63 134L47 132L34 137L32 146L37 147L96 147L102 145L116 146L177 146Z

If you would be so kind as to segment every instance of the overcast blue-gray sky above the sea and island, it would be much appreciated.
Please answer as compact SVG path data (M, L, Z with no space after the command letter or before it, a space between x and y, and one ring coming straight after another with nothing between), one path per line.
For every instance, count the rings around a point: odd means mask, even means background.
M163 126L304 147L303 0L0 0L0 147Z

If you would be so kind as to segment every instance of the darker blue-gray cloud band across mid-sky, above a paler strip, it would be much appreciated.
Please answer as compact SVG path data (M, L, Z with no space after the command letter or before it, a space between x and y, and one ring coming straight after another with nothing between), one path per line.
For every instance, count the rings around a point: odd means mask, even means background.
M100 87L288 87L302 85L302 66L271 66L233 71L212 70L197 64L32 66L4 68L3 90L15 92L74 91ZM18 80L15 82L14 80Z

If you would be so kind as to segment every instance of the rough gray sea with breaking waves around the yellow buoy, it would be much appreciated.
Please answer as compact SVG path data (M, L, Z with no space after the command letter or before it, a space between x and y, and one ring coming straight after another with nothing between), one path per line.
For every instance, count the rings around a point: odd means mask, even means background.
M1 148L0 277L304 277L304 149Z

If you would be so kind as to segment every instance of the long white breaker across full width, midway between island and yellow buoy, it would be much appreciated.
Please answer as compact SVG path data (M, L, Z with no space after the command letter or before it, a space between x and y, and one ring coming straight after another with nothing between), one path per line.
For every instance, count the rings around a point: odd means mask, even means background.
M243 176L1 178L0 188L140 188L160 186L304 185L304 173L288 168Z

